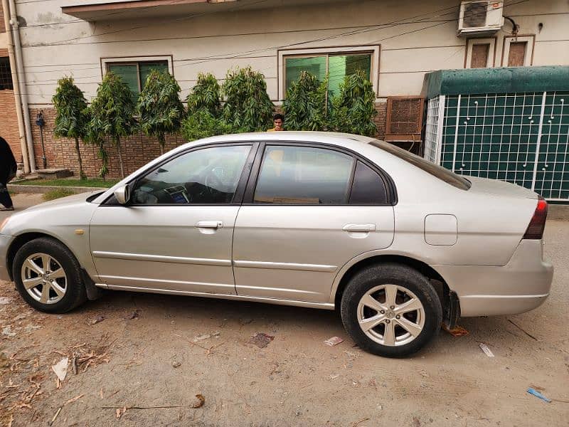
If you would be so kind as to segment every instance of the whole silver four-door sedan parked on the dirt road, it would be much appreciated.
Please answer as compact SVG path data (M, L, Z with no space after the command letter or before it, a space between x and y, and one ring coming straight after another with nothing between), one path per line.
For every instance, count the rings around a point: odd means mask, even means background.
M11 216L0 278L43 312L101 288L336 308L361 348L402 357L459 316L541 305L546 215L528 189L377 139L224 135Z

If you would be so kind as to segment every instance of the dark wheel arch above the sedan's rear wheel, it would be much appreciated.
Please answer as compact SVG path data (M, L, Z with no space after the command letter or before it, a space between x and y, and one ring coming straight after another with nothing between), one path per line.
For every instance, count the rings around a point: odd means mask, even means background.
M396 263L400 265L407 265L414 270L418 270L420 273L430 279L433 287L439 295L443 310L445 310L445 304L451 290L442 275L440 275L437 270L432 268L424 261L412 258L408 255L400 254L371 254L366 258L356 260L356 262L353 262L351 265L350 263L344 265L344 268L340 270L340 273L336 276L336 280L334 280L334 287L332 289L331 295L331 302L334 302L334 306L336 308L340 306L341 297L344 294L346 285L349 283L351 278L353 278L353 275L358 273L358 271L361 271L363 268L368 267L369 265L376 265L379 263Z

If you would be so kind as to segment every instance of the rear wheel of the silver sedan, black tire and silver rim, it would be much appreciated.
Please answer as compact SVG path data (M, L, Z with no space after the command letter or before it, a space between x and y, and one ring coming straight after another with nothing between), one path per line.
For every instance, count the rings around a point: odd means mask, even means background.
M395 263L358 271L341 298L341 319L361 349L406 357L435 337L442 323L440 299L417 270Z

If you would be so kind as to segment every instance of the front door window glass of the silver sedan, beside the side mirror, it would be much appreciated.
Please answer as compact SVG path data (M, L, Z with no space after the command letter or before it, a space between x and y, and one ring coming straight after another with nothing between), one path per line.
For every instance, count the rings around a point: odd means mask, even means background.
M132 203L230 203L250 148L211 147L182 154L139 179Z

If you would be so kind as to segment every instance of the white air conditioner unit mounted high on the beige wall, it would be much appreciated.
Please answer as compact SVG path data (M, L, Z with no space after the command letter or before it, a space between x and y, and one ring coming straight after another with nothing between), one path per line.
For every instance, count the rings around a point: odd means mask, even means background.
M458 20L458 34L491 34L504 26L504 1L462 1Z

